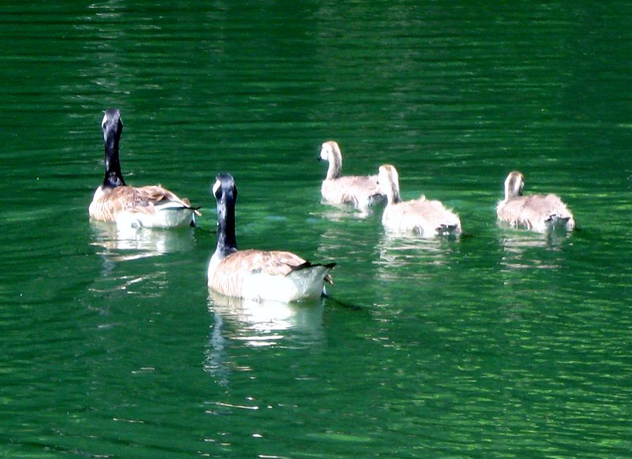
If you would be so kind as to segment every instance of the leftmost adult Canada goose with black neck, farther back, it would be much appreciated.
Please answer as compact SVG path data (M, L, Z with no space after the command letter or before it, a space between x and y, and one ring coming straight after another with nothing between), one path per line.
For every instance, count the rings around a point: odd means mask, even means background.
M195 226L197 209L160 185L130 187L125 184L119 161L123 121L118 109L107 109L101 121L105 142L105 178L88 207L91 218L133 227Z

